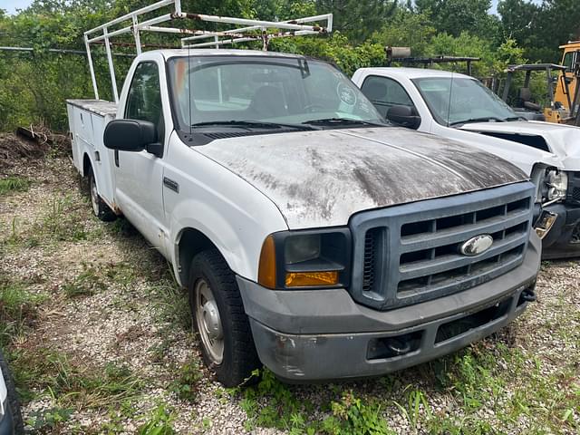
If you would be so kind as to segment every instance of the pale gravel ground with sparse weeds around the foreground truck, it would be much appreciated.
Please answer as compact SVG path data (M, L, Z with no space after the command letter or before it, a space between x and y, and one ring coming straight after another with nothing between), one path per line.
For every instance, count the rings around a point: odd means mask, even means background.
M166 261L131 226L121 220L105 224L92 218L69 160L25 162L10 171L31 179L32 185L27 191L0 198L0 278L24 283L28 291L44 295L34 324L11 344L13 352L34 354L43 350L65 355L83 373L102 373L113 363L129 367L138 382L135 393L126 401L131 405L129 411L122 411L124 405L118 402L111 405L105 399L99 405L91 397L64 398L46 388L33 387L31 400L24 403L24 420L36 424L36 430L43 433L135 433L162 403L170 410L171 424L178 433L285 433L260 427L260 422L242 409L244 394L224 391L205 369L200 369L201 380L193 386L195 397L179 398L172 385L179 379L181 368L201 361L197 339L187 327L189 320L183 309L179 312L186 300L173 285ZM331 401L339 400L345 391L353 391L365 402L381 403L382 418L394 433L439 431L429 426L427 408L431 422L432 416L455 422L469 418L487 422L499 433L578 433L579 280L580 266L576 262L544 264L537 285L538 303L468 353L381 380L281 388L300 402L314 404L310 420L323 420L330 413ZM72 289L76 289L74 295ZM486 401L474 408L461 400L466 393L459 393L459 384L448 383L441 388L433 378L441 364L443 372L453 371L458 358L465 362L466 355L480 354L497 362L493 376L501 384L501 391L491 391L493 403ZM514 355L521 356L523 369L513 368ZM571 399L566 395L562 401L572 407L567 422L559 426L549 423L552 405L547 399L538 399L539 412L520 411L513 418L505 417L513 409L515 398L537 388L529 382L527 371L539 373L546 380L557 379L548 385L548 396L557 391L570 392ZM510 375L512 372L515 375ZM478 376L481 372L475 378ZM493 382L486 385L494 389ZM420 391L424 398L417 407L416 419L400 406L412 408L407 406L411 391ZM273 402L268 394L257 399L259 407ZM39 415L47 415L63 403L72 410L67 419L44 426L34 423ZM522 406L532 404L526 401ZM560 411L561 407L555 409Z

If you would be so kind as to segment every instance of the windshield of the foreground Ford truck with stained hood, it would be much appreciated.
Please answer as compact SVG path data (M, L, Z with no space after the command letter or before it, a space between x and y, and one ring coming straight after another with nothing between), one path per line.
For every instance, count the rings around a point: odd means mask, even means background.
M169 60L173 110L189 125L302 125L353 121L384 125L362 92L332 65L302 58L198 56ZM189 90L191 89L191 92ZM242 124L245 123L245 124Z

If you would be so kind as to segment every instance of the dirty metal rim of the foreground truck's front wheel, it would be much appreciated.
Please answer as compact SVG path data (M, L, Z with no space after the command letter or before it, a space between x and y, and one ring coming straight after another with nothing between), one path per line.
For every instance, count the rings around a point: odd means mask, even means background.
M199 279L196 283L194 296L195 322L201 343L212 362L221 364L224 359L224 330L216 298L205 279Z

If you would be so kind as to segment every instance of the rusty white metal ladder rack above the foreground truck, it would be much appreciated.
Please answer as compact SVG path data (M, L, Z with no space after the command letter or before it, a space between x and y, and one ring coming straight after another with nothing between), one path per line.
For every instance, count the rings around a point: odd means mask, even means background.
M140 15L158 11L166 6L173 6L168 14L160 14L145 21L139 21ZM158 24L170 22L178 19L189 19L194 22L231 24L234 27L225 31L208 31L179 27L165 27ZM325 26L318 23L325 22ZM124 27L111 30L118 24L125 24ZM127 25L129 24L129 25ZM239 27L242 26L242 27ZM275 29L275 32L271 32ZM249 41L261 41L262 49L267 50L268 42L275 38L301 36L306 34L327 34L333 30L333 14L321 14L297 18L295 20L262 21L247 18L235 18L228 16L217 16L208 14L189 14L181 10L181 0L160 0L149 6L141 7L129 14L124 14L108 23L99 25L84 33L84 44L89 60L89 70L91 72L92 89L94 96L99 99L99 90L92 63L91 44L104 43L109 71L111 74L112 95L115 102L119 102L119 92L115 78L115 70L112 63L111 38L120 34L132 34L135 39L137 55L142 51L143 45L140 42L141 32L157 32L165 34L179 34L182 48L219 48L222 45L245 43ZM268 32L270 31L270 32Z

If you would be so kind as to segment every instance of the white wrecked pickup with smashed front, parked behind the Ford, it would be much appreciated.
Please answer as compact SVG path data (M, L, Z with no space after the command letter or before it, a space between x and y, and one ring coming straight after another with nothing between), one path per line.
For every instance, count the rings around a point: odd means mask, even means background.
M580 128L522 120L464 74L361 68L353 82L392 123L460 140L524 170L536 183L536 201L556 217L543 257L580 256Z

